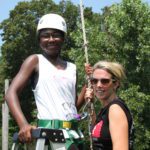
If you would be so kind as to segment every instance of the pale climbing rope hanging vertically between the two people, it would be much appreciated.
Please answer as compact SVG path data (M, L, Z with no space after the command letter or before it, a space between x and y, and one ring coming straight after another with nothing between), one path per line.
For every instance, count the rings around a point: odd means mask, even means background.
M84 52L85 52L85 58L86 58L86 63L89 63L88 60L88 50L87 50L87 40L86 40L86 33L85 33L85 24L84 24L84 11L83 11L83 3L82 0L80 0L80 14L81 14L81 23L82 23L82 31L83 31L83 40L84 40ZM91 88L91 82L90 82L90 77L87 76L88 80L88 88ZM92 116L94 115L94 105L91 102L91 99L88 98L87 103L85 104L83 111L85 108L88 108L88 116L89 116L89 122L88 122L88 130L89 130L89 136L90 136L90 149L93 150L93 145L92 145L92 134L91 134L91 125L92 125Z

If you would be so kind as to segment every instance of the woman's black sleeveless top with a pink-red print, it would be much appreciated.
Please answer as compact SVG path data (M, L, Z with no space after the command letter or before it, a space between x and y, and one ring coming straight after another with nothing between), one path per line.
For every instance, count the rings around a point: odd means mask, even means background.
M132 149L133 119L127 105L120 98L115 99L106 107L102 108L97 115L96 122L92 127L92 139L94 150L112 150L112 140L109 131L109 107L118 104L125 112L129 125L129 147Z

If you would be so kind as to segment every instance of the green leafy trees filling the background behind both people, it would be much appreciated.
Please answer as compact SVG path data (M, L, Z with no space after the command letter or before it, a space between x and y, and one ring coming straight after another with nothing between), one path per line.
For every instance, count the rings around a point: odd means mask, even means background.
M52 0L20 2L10 12L10 17L0 24L4 41L0 58L1 103L4 79L11 81L28 55L41 52L36 39L36 26L39 18L50 12L62 15L67 21L68 33L62 57L74 62L78 67L78 91L85 84L85 57L79 7L70 1L61 1L58 5ZM134 149L149 150L150 7L141 0L123 0L120 4L105 7L102 14L85 8L84 17L90 63L93 65L99 60L117 61L126 69L128 79L118 94L126 101L133 114ZM21 105L28 121L36 123L36 107L30 83L27 86L21 95ZM97 111L100 109L99 102L95 103L95 107ZM12 118L9 128L10 147L12 134L17 130ZM88 136L86 121L81 123L81 128L85 136Z

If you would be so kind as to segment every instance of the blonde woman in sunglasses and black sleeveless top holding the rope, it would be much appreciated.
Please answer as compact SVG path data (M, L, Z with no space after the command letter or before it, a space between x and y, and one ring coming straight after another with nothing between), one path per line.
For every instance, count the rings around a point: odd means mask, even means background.
M91 67L86 65L85 68L89 74ZM93 67L90 78L93 90L87 89L85 99L92 99L95 94L103 106L91 130L94 150L130 149L132 116L123 100L117 96L124 78L124 69L118 63L100 61Z

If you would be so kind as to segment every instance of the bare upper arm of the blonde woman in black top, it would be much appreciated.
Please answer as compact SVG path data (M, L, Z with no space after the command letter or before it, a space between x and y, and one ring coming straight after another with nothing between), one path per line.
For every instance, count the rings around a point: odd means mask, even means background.
M109 109L109 129L113 150L129 150L128 121L123 109L113 104Z

